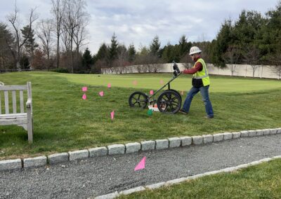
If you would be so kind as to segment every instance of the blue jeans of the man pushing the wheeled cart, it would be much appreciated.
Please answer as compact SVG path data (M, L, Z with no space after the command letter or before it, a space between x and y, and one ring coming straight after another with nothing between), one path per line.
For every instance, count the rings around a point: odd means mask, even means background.
M186 112L189 111L191 101L199 91L202 95L202 100L205 104L207 116L213 117L214 116L213 107L211 107L211 101L209 99L209 85L202 86L200 88L195 88L194 86L192 86L192 88L188 92L188 96L186 97L185 102L183 103L183 110Z

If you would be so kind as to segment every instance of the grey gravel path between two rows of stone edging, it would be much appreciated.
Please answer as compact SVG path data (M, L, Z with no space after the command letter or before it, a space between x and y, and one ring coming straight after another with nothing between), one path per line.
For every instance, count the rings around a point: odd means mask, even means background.
M89 198L281 155L281 135L0 172L0 198ZM134 167L146 156L144 170Z

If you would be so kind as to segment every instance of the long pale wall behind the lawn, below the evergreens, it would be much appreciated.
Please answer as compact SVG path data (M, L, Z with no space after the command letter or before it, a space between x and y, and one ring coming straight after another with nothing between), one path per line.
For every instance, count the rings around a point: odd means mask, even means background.
M158 72L162 73L170 73L173 71L172 64L158 64L157 66ZM184 69L183 64L178 63L179 69ZM231 76L231 71L233 70L233 76L244 76L244 77L252 77L253 76L253 69L251 65L247 64L227 64L226 68L220 69L218 67L214 67L213 64L207 64L209 74L215 74L215 75L224 75L224 76ZM233 69L231 70L231 67ZM129 66L123 69L114 69L113 74L120 74L120 71L122 71L122 74L127 73L138 73L138 69L145 68L143 65L134 65ZM145 70L142 70L141 72L148 72ZM110 69L102 69L103 74L112 74L112 71ZM280 79L280 76L278 76L274 71L273 68L270 66L256 66L256 70L254 72L254 77L257 78L277 78Z

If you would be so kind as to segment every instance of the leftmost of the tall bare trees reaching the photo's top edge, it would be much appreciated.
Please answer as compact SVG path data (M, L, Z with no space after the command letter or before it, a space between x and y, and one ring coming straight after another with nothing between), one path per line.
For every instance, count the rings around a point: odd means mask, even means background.
M62 26L63 26L63 15L65 12L65 4L62 0L51 0L52 8L51 13L53 13L53 22L55 28L53 31L55 32L55 36L57 38L57 59L56 59L56 67L60 67L60 34L62 34Z

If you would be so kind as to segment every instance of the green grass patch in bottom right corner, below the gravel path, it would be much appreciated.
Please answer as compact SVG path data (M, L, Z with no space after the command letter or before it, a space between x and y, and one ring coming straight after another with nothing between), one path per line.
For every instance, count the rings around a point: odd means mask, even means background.
M281 160L119 198L280 198Z

